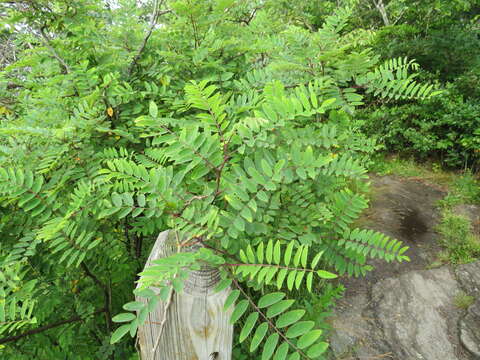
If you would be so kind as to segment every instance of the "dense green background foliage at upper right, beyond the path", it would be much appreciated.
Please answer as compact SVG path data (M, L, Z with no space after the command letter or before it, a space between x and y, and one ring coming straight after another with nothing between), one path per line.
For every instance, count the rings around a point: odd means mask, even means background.
M421 78L436 81L444 95L420 103L390 102L366 108L364 129L378 135L387 150L439 160L449 168L478 169L480 3L401 3L388 3L392 16L397 16L397 9L402 15L376 32L373 47L382 58L415 58ZM378 26L373 19L370 24Z

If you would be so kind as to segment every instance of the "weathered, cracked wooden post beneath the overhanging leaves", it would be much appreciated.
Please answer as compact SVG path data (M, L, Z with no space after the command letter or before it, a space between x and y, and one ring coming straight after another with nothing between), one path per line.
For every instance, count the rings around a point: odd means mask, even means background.
M173 251L173 231L160 233L145 268L150 266L153 260L165 257ZM218 281L219 272L214 268L205 268L190 274L184 291L173 294L167 309L167 321L153 353L166 305L164 302L158 303L138 329L142 360L231 360L231 312L223 311L223 305L231 290L213 292ZM158 293L158 290L156 292ZM145 299L140 297L136 300L145 302Z

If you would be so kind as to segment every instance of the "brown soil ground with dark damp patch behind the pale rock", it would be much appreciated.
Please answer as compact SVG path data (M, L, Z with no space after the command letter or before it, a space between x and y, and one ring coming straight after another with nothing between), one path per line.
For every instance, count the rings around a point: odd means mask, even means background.
M375 269L362 278L345 278L345 297L366 291L368 283L427 268L441 250L434 230L440 214L437 202L446 195L441 187L420 179L371 176L370 208L359 220L362 227L401 240L409 249L409 262L373 260Z

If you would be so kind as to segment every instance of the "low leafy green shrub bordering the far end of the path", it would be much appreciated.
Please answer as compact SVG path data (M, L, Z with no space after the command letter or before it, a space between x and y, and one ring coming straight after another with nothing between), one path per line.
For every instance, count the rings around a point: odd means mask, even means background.
M480 104L453 88L417 104L366 110L364 131L386 149L417 159L436 158L448 167L476 167L480 158Z

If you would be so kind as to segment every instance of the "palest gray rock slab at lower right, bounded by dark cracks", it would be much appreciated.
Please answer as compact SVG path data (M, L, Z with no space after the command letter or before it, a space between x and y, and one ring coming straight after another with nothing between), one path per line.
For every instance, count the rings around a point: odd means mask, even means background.
M372 299L383 339L398 359L460 359L455 294L449 269L412 271L373 287Z

